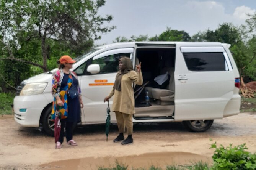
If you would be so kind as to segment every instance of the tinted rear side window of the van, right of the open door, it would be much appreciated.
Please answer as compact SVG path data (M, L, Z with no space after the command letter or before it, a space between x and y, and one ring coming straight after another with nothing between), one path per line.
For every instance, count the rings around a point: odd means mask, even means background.
M222 52L183 53L186 65L191 71L225 71L225 58Z

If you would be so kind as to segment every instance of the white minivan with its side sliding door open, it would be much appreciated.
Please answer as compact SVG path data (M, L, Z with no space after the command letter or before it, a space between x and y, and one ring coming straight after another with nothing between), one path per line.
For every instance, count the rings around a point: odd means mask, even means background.
M191 131L203 132L214 119L238 114L240 76L229 47L219 42L124 42L96 47L73 64L84 102L80 124L105 123L108 104L103 100L113 88L120 56L129 57L134 66L142 62L143 85L134 86L133 122L183 122ZM53 134L51 82L56 71L21 82L13 103L16 122L26 127L42 125ZM159 83L159 77L165 79ZM111 122L116 122L113 112Z

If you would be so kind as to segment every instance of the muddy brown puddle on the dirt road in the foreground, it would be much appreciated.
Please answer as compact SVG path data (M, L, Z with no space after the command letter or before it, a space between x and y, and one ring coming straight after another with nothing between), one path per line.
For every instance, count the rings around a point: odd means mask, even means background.
M188 152L156 152L121 157L69 159L42 164L40 167L47 170L97 170L98 167L113 167L116 161L128 165L128 169L149 168L151 165L165 169L166 165L191 165L199 161L211 164L212 158Z

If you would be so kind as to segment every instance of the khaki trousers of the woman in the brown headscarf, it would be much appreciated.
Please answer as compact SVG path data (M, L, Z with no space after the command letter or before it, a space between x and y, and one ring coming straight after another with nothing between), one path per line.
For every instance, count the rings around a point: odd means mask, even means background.
M128 135L132 135L132 128L133 128L132 114L125 114L118 111L116 111L115 113L116 113L116 121L117 121L119 132L120 133L125 132L125 127L126 127Z

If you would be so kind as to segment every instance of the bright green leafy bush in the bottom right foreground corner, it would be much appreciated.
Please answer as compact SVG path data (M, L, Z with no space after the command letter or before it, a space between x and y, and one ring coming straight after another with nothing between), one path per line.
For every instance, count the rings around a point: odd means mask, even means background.
M216 142L212 144L211 148L215 148L212 156L214 164L212 170L255 170L256 169L256 154L246 151L245 144L232 147L220 145L216 146Z

